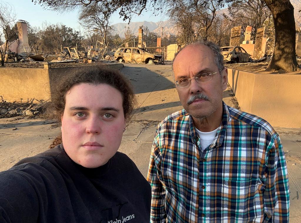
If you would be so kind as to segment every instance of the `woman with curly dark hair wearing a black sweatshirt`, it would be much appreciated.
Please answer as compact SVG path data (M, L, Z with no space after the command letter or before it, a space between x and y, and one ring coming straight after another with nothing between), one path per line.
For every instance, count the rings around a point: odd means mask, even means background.
M149 222L151 187L117 152L135 104L129 81L89 66L51 100L61 142L0 172L0 222Z

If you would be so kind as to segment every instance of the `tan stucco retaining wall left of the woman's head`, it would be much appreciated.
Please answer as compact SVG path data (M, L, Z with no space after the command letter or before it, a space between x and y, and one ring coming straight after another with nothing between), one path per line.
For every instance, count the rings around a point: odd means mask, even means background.
M123 64L106 64L105 66L119 70ZM8 102L20 102L21 98L23 102L32 98L46 101L50 99L50 92L54 89L56 81L70 69L71 67L51 69L1 67L0 95Z

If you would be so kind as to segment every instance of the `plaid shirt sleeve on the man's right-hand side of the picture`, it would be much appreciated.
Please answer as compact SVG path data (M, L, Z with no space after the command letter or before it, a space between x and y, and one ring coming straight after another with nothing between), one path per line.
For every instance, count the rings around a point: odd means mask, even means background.
M265 222L289 222L289 184L287 166L280 138L277 136L267 152Z

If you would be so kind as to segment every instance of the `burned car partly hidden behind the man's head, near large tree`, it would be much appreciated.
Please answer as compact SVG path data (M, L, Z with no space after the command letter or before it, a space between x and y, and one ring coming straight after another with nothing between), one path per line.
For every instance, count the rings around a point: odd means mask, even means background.
M250 54L240 46L224 46L221 47L221 50L226 62L249 62Z

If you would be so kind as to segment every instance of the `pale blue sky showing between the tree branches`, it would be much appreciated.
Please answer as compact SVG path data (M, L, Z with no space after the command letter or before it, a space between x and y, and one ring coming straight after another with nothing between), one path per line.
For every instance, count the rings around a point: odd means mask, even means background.
M43 23L63 23L76 30L78 30L80 26L77 21L77 11L61 14L43 9L41 5L34 5L31 0L2 0L2 2L7 2L14 8L17 20L26 20L31 26L39 26L42 28ZM166 19L167 17L164 17L164 15L154 17L151 12L145 12L143 15L133 17L132 22L159 22L160 20L164 21ZM110 20L112 24L124 23L122 19L119 19L118 13L113 14Z

